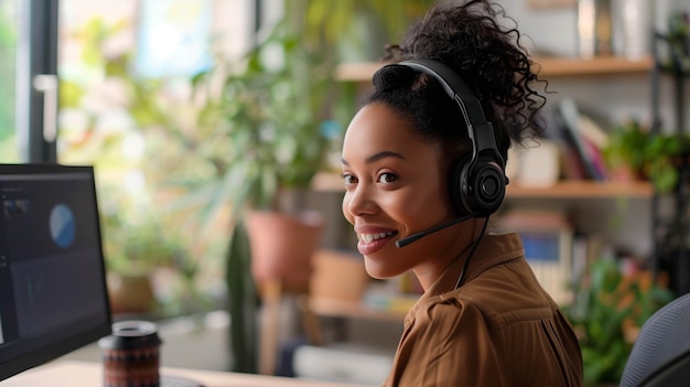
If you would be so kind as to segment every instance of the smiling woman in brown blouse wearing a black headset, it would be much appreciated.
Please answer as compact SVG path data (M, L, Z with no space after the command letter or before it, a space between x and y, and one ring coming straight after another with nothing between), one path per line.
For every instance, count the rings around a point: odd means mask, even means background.
M343 213L368 273L412 270L424 289L385 386L582 384L575 335L519 237L486 233L508 147L536 133L545 103L502 15L486 1L432 8L345 135Z

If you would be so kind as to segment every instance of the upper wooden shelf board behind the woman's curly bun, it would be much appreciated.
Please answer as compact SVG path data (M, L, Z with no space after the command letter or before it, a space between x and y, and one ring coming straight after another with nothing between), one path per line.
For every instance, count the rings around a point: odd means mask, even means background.
M535 63L541 66L539 75L548 77L573 77L592 75L625 75L645 74L654 67L651 57L630 61L616 56L602 56L592 60L572 57L535 57ZM384 63L344 63L336 71L339 80L369 82L371 75Z

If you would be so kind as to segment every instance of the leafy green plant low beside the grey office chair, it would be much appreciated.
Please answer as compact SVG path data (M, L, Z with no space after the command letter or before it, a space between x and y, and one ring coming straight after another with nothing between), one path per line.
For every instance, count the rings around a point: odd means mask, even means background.
M618 383L633 346L630 332L673 299L668 289L640 278L624 276L614 260L596 260L575 287L573 302L563 307L580 340L585 385Z

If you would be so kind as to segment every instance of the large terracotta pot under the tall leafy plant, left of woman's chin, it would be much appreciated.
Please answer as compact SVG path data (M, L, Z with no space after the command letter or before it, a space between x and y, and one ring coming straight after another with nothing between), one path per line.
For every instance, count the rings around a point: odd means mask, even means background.
M280 281L287 290L306 290L323 229L321 215L256 211L247 214L246 226L251 273L259 288L267 281Z

